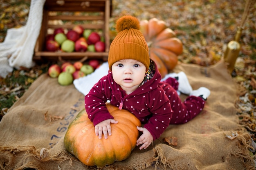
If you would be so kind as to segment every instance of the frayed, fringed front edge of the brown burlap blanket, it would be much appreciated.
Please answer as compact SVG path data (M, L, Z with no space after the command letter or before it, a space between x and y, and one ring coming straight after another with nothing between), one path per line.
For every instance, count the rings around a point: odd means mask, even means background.
M236 146L234 149L231 150L230 156L234 155L235 157L240 157L240 160L244 164L245 168L247 170L255 170L255 163L254 163L254 157L252 157L249 154L249 150L254 150L254 147L252 146L252 139L250 135L247 132L243 131L237 131L238 135L235 138L236 139ZM7 167L11 166L12 163L12 157L10 155L18 155L18 153L24 152L24 155L22 157L25 158L31 158L34 157L38 161L47 162L47 161L66 161L69 160L70 166L72 166L72 161L79 161L65 150L61 150L60 152L56 154L49 154L49 150L47 148L41 148L36 149L34 146L21 146L21 145L12 145L12 146L0 146L0 155L9 155L6 156L4 160L0 160L0 168L1 169L7 169ZM153 148L153 157L151 159L147 159L144 162L137 163L136 165L132 166L126 166L124 168L118 166L118 169L120 170L143 170L148 168L149 166L152 166L155 164L155 170L158 166L161 166L162 169L166 169L167 167L171 169L177 169L183 170L182 167L176 167L176 165L173 162L170 162L165 156L164 151L162 150L162 147L159 145L156 145ZM26 159L24 159L26 160ZM5 167L3 167L5 166ZM90 169L101 169L99 167L88 167ZM24 164L21 167L16 168L16 170L22 170L23 168L37 168L34 167L34 165L31 162L24 162ZM115 165L108 165L102 169L116 169L117 166ZM232 165L228 165L228 169L232 169Z

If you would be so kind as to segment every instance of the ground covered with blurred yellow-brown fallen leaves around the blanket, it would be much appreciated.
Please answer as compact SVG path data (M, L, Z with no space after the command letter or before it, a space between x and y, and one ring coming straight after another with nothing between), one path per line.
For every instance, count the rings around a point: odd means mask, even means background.
M0 0L0 42L7 29L26 24L30 0ZM234 39L240 26L245 0L112 0L110 33L121 15L134 15L139 20L156 17L166 22L182 41L184 50L179 60L202 66L213 65L222 59L227 43ZM235 106L240 124L256 141L256 4L247 15L241 50L232 76L240 87ZM111 37L113 38L113 37ZM28 89L49 63L37 63L34 68L14 69L6 78L0 78L1 116Z

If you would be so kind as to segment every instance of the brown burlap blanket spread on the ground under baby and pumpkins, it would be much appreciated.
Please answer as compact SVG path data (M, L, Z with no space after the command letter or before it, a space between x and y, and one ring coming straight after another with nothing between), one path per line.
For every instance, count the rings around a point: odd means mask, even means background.
M148 149L137 147L128 159L104 169L254 169L250 136L239 128L236 116L238 90L225 64L208 68L179 64L175 72L180 71L187 74L193 89L211 90L204 110L186 124L170 125ZM74 85L63 87L47 74L40 76L0 122L0 167L97 169L83 165L63 145L68 125L84 107L83 98ZM165 137L177 137L177 146L163 142Z

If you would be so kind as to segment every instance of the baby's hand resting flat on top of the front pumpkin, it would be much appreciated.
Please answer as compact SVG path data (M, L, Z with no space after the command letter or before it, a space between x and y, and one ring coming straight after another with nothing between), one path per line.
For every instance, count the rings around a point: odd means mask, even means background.
M108 135L110 135L110 136L112 135L110 123L117 124L118 122L115 121L114 119L107 119L102 122L99 122L94 127L95 135L99 136L99 139L102 138L102 133L103 133L105 139L108 139Z

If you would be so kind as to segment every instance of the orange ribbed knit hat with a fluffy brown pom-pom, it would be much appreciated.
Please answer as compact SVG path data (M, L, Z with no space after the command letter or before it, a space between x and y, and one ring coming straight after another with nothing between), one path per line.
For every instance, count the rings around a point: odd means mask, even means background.
M141 31L139 20L130 15L117 20L117 36L110 44L108 66L122 59L135 59L146 66L148 70L150 59L148 45Z

